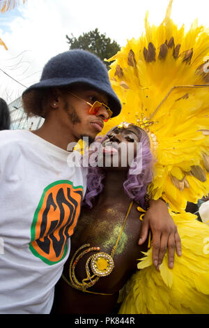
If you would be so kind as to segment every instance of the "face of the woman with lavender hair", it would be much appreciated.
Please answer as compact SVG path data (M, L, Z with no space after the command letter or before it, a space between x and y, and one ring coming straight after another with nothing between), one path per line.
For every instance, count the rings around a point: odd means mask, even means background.
M103 167L111 167L111 170L128 170L130 164L137 156L139 133L133 126L129 128L114 128L107 133L107 139L102 142L102 154L100 161Z

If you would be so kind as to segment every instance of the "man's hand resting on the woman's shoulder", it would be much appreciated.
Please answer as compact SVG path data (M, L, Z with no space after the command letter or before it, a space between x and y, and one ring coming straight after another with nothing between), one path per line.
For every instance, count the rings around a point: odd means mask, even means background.
M144 215L139 245L146 241L148 230L153 234L153 264L159 269L162 259L169 250L169 268L173 268L174 253L181 255L181 242L167 204L163 200L151 200L150 208Z

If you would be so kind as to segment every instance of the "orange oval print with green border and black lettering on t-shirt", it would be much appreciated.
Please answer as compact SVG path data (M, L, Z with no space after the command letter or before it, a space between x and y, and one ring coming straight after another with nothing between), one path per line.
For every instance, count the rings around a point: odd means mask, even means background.
M29 248L43 262L52 265L61 261L68 250L66 241L75 229L81 210L83 187L61 180L49 184L31 225Z

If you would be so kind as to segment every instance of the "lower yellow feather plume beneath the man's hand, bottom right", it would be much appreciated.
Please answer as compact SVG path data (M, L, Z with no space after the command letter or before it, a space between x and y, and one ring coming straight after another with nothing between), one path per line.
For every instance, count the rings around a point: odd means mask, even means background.
M160 271L152 262L152 248L146 252L140 270L125 285L121 314L209 314L209 226L190 213L174 214L182 244L182 255L175 254L173 269L168 253ZM150 265L148 265L150 263ZM143 269L142 269L143 267Z

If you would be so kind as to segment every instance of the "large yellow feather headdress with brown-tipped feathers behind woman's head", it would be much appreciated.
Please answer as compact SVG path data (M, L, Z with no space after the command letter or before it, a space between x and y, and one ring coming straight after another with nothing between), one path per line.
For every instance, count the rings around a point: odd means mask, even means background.
M143 128L156 159L148 192L182 211L209 193L209 35L196 21L178 29L171 5L159 27L146 15L146 33L108 60L123 108L102 134L123 121Z

